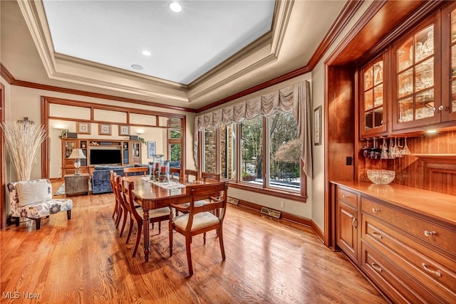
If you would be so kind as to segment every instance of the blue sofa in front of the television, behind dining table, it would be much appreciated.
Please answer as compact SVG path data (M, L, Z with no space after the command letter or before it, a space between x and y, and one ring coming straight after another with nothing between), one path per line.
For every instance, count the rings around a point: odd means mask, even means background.
M113 192L110 183L110 172L113 171L115 174L120 176L124 176L123 168L125 167L148 167L147 174L150 173L150 166L148 164L128 164L125 166L103 166L97 165L93 168L92 178L90 179L92 182L92 194L101 194L101 193L109 193ZM133 172L130 175L140 175L141 172Z

